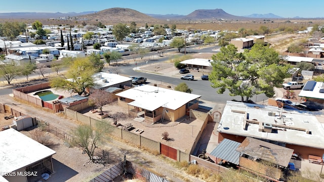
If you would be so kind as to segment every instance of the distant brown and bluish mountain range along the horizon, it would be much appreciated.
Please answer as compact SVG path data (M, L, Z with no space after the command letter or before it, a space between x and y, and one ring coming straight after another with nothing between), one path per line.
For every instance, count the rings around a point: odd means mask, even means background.
M162 20L245 20L253 18L282 18L272 13L268 14L252 14L248 16L234 16L226 13L222 9L214 10L195 10L188 15L156 15L144 14L136 10L128 8L110 8L102 11L88 11L81 13L35 13L35 12L20 12L20 13L0 13L0 19L56 19L59 17L78 17L84 20L96 20L102 22L155 22Z

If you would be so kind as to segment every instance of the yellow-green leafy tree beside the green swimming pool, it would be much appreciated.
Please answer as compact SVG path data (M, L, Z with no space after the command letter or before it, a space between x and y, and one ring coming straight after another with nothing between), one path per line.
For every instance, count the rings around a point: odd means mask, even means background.
M78 95L82 95L87 87L94 86L94 73L95 68L88 58L70 60L66 75L51 78L50 85L54 88L74 90Z

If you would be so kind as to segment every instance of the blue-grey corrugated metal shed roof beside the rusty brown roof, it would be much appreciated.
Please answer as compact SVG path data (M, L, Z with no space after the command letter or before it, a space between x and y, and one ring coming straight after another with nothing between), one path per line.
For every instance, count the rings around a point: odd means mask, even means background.
M210 154L217 158L221 158L230 163L238 165L240 154L236 151L236 148L240 144L241 143L239 142L224 139Z

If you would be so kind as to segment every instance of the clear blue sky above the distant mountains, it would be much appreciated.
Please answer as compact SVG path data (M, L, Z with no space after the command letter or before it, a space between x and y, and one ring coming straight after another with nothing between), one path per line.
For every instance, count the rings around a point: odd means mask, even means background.
M130 8L146 14L178 14L188 15L194 10L223 9L226 13L235 16L246 16L251 14L273 13L284 18L324 17L324 1L302 1L302 0L12 0L1 1L0 13L10 12L47 12L68 13L101 11L109 8Z

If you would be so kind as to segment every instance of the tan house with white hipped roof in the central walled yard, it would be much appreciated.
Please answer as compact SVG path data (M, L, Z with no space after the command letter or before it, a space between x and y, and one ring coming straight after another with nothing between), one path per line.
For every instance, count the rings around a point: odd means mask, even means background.
M201 97L151 85L133 87L116 96L118 104L128 108L131 116L141 116L150 123L163 119L177 121L189 115L190 109L198 108Z

